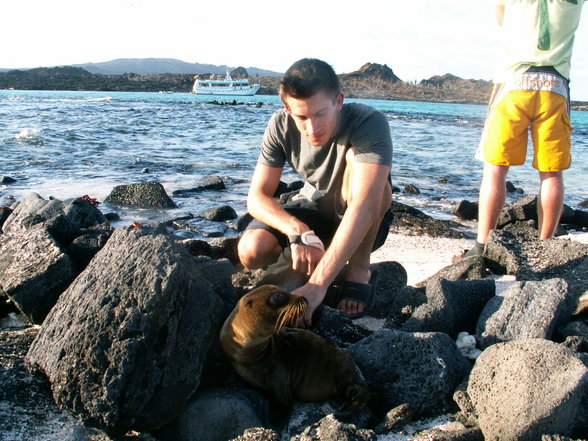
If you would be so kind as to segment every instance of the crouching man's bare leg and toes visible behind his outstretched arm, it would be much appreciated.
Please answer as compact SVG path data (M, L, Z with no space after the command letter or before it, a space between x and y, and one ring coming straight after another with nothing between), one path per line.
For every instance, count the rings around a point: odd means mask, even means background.
M351 189L349 183L353 176L353 151L350 149L347 153L347 167L345 169L345 175L343 178L343 185L341 189L342 198L345 203L351 201ZM384 215L390 208L392 203L392 189L389 185L384 188L384 194L382 195L382 203L380 206L380 213L374 218L374 223L367 232L364 240L361 242L359 248L351 256L345 270L345 279L358 283L369 283L371 278L370 273L370 255L374 246L374 241L380 229L380 224ZM364 305L353 300L342 300L337 305L339 311L345 314L357 314L363 311Z

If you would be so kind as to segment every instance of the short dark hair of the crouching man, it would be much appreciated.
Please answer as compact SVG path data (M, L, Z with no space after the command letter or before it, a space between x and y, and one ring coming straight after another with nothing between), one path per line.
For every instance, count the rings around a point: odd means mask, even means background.
M294 63L280 81L280 98L307 99L324 90L333 100L341 93L339 77L328 63L316 58L303 58Z

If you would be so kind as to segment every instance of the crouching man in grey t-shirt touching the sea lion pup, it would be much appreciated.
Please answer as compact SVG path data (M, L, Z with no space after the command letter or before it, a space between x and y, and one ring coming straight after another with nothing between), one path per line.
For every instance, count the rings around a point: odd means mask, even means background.
M239 258L247 268L286 259L303 275L293 293L308 300L306 324L345 269L337 307L360 317L375 296L370 254L384 243L392 218L390 126L369 106L344 104L339 78L321 60L294 63L280 98L284 109L266 128L251 180L254 220L239 241ZM273 196L286 163L305 185L282 206Z

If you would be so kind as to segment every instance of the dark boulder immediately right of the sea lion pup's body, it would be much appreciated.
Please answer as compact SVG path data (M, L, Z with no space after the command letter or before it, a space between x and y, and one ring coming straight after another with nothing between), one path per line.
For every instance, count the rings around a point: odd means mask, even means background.
M449 411L453 392L471 368L455 342L442 333L381 330L347 350L382 414L404 403L421 416Z

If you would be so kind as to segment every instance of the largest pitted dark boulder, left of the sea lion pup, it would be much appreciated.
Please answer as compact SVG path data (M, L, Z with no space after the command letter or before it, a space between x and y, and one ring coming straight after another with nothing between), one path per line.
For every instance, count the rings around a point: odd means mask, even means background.
M183 246L119 229L51 310L26 364L85 424L115 436L155 429L198 387L221 314Z

